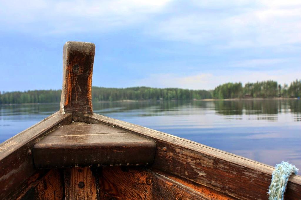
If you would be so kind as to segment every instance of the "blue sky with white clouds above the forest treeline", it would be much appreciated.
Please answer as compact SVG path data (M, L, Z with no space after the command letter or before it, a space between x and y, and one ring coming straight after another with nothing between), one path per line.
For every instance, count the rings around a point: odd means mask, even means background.
M92 85L214 89L301 78L301 1L0 1L0 91L61 89L67 41Z

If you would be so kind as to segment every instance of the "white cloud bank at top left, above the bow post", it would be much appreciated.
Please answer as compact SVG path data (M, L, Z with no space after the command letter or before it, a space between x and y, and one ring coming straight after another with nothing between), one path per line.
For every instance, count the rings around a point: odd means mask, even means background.
M157 13L169 0L2 1L0 27L35 33L107 31Z

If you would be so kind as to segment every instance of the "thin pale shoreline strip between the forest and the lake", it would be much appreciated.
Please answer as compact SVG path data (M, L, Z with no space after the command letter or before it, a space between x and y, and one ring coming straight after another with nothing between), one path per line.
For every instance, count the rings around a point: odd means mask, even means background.
M184 101L240 101L240 100L297 100L298 98L288 98L288 97L271 97L271 98L234 98L234 99L193 99ZM180 100L117 100L117 101L97 101L97 103L120 103L120 102L151 102L151 101L180 101ZM6 103L0 104L3 106L13 106L13 105L38 105L38 104L57 104L60 102L53 103Z

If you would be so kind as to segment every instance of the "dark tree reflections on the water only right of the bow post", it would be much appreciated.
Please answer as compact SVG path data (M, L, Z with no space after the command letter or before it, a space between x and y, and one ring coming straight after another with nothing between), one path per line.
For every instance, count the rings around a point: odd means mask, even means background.
M143 115L147 116L158 115L159 112L193 109L194 107L215 110L220 115L262 115L258 116L259 120L273 120L275 117L266 115L277 115L282 112L293 112L298 115L301 113L300 100L137 101L93 104L93 109L97 113L144 110L146 112Z

